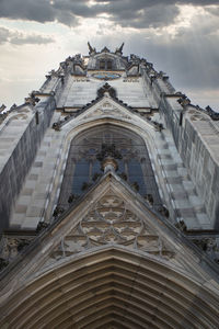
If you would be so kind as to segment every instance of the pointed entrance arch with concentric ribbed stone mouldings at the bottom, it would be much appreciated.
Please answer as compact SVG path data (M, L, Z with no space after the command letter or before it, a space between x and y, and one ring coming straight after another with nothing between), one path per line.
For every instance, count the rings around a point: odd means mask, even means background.
M23 283L3 306L0 325L216 329L218 309L218 296L201 280L112 246L59 262Z

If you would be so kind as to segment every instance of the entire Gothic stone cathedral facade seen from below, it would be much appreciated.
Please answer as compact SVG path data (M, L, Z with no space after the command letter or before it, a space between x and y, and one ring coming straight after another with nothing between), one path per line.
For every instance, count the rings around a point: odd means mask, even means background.
M0 328L217 329L219 114L88 46L0 107Z

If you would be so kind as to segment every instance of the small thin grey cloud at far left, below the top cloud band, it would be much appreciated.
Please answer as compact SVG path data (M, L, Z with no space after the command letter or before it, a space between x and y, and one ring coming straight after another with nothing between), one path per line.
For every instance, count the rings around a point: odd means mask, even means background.
M53 43L54 39L49 36L39 34L24 34L19 31L9 30L0 26L0 44L10 43L12 45L24 45L24 44L48 44Z

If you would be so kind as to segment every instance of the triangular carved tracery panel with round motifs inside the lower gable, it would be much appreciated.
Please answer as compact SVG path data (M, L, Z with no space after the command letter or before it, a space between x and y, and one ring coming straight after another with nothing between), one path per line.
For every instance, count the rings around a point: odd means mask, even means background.
M80 223L62 238L50 258L59 260L90 248L116 243L164 259L174 257L161 237L138 218L119 197L103 196Z

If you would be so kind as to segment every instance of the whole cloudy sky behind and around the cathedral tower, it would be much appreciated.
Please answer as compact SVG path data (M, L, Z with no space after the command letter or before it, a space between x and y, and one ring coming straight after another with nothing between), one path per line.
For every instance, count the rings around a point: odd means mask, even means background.
M22 104L76 54L136 54L219 111L219 0L0 0L0 105Z

